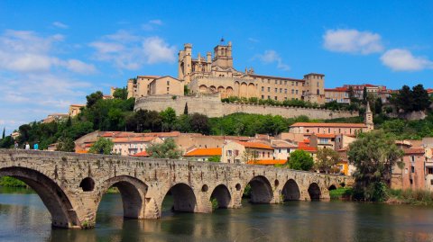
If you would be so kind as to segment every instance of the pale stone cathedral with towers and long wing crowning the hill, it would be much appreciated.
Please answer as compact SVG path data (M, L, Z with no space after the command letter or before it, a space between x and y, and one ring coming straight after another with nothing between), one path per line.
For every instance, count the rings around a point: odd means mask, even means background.
M302 79L257 75L253 69L238 71L233 66L232 42L221 40L214 53L206 57L192 57L192 45L187 43L179 52L178 77L137 76L128 81L128 97L170 94L183 95L188 85L189 94L217 94L221 98L272 99L275 101L303 100L325 103L325 75L310 73Z

